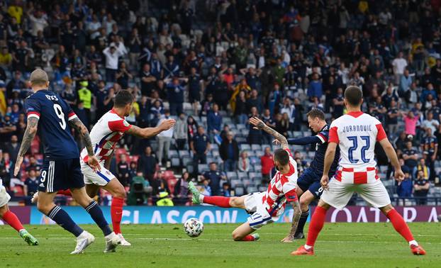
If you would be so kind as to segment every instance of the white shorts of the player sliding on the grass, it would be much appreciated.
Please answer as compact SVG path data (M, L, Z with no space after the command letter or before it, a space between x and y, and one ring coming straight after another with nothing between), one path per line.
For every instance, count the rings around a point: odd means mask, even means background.
M256 192L248 194L244 200L245 209L252 213L252 215L247 218L247 222L250 223L250 227L255 230L258 230L263 225L279 220L279 216L269 216L267 209L262 204L263 196L264 192Z

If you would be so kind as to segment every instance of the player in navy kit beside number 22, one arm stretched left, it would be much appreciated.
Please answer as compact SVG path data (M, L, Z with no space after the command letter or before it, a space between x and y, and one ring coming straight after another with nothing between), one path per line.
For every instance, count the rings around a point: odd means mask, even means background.
M303 228L309 216L309 204L314 199L319 199L322 194L320 179L323 174L323 163L325 160L326 148L328 148L329 125L325 121L325 113L319 109L312 109L307 113L309 128L317 135L303 138L288 139L289 144L308 145L316 144L316 155L308 169L297 180L297 196L300 199L301 217L298 221L297 231L294 235L296 239L305 238ZM335 155L335 160L330 168L329 176L332 177L337 169L339 151Z

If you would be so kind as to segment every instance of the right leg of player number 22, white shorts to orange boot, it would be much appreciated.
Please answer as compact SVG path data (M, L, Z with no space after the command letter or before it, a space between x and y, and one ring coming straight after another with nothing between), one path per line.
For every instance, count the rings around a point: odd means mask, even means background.
M391 199L384 185L378 180L372 184L360 184L357 191L359 195L375 208L379 208L384 215L391 220L393 228L409 243L413 254L425 255L423 247L413 238L411 229L408 227L403 216L391 205Z

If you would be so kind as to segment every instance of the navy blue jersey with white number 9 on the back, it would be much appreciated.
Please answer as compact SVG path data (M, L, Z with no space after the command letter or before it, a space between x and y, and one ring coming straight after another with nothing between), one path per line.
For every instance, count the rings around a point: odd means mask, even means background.
M77 116L69 104L52 91L39 90L26 99L25 107L28 118L39 118L37 135L43 143L45 158L79 158L67 123Z

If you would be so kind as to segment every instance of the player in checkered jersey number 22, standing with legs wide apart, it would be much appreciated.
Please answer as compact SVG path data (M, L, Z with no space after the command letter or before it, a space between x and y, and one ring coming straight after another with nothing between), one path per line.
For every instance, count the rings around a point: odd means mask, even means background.
M414 255L425 255L425 250L415 241L403 217L391 206L389 194L376 175L374 148L375 143L379 142L395 169L396 181L401 182L404 178L396 152L389 143L383 126L376 118L361 111L362 102L362 90L357 86L347 87L347 114L337 118L330 126L329 145L320 181L325 191L311 218L306 245L298 247L291 255L313 255L313 246L325 223L326 211L330 206L344 208L354 192L375 208L379 208L391 220L393 228L408 241ZM340 147L339 167L329 182L328 171L337 145Z

